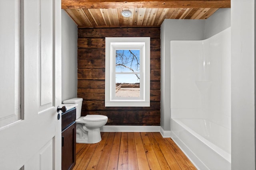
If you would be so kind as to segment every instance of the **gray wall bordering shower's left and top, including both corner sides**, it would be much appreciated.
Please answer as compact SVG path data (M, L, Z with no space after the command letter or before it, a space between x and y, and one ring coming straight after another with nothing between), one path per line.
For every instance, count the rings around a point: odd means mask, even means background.
M207 20L164 20L161 25L161 127L170 131L170 41L202 40L230 27L230 9Z

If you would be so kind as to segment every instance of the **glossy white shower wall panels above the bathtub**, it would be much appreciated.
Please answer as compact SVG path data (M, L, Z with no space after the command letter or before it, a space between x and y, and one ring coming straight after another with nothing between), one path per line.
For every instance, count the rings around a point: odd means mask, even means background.
M172 118L231 129L230 43L230 27L201 41L171 41Z

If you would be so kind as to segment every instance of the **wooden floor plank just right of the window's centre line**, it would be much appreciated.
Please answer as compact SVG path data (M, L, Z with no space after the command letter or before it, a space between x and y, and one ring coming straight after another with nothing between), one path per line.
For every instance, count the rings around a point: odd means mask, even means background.
M128 133L128 169L138 170L138 159L134 142L134 133Z

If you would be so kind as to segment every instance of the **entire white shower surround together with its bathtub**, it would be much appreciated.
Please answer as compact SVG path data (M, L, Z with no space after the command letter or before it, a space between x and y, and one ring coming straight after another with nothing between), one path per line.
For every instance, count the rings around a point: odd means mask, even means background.
M201 170L231 169L230 27L171 41L171 135Z

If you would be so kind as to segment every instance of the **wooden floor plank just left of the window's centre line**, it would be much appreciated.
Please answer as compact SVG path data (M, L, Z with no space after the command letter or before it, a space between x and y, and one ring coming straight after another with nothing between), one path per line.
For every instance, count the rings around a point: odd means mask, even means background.
M128 170L128 133L122 132L119 158L118 158L118 170Z

